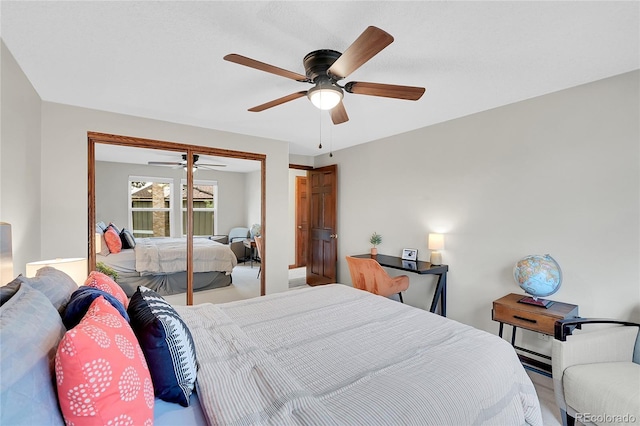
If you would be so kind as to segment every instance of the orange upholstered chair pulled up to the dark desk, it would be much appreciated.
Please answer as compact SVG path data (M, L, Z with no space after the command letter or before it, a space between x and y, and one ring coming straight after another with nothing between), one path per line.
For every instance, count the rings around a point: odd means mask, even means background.
M347 256L347 264L351 273L351 282L355 288L384 297L397 293L400 301L404 303L402 292L409 288L408 276L391 277L374 259Z

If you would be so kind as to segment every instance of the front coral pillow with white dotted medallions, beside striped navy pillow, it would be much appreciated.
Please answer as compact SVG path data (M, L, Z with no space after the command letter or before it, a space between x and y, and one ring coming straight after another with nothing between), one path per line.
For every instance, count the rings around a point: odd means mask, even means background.
M144 354L127 321L100 296L56 352L66 424L153 424L154 394Z

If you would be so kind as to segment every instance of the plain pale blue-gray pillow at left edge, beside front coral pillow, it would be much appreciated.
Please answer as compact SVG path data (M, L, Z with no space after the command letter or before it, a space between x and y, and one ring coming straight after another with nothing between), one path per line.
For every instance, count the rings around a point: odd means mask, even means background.
M0 424L64 424L54 358L65 331L49 299L28 284L0 307Z

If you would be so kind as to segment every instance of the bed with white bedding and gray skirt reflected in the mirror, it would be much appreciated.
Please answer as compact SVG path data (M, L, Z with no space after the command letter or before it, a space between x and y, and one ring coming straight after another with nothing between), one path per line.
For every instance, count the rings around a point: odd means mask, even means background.
M107 256L97 254L96 262L102 262L118 273L116 281L129 297L138 286L171 295L187 291L186 251L184 238L136 238L135 248ZM194 291L231 284L231 272L237 259L228 245L208 238L195 238L193 257Z

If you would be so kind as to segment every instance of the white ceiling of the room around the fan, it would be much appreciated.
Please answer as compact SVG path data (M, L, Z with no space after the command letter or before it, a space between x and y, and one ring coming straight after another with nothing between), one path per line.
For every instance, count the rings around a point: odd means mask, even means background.
M640 67L637 1L2 1L1 35L45 101L288 141L318 155ZM350 121L311 86L224 61L304 74L375 25L395 41L347 81L424 86L419 101L345 94ZM134 135L135 136L135 135ZM318 149L322 138L324 148Z

